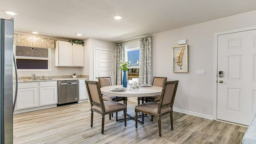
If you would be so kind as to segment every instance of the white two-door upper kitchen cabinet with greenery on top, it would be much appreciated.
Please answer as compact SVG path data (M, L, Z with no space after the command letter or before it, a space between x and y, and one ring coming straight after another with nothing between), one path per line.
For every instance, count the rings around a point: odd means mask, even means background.
M55 66L84 66L84 46L56 41Z

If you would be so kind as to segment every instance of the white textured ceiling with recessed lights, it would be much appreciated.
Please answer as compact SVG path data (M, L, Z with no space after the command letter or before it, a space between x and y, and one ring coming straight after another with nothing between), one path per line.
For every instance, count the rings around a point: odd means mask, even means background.
M5 14L4 10L18 13ZM256 0L1 0L14 31L118 42L256 10ZM122 15L115 20L114 15ZM75 33L82 33L76 36Z

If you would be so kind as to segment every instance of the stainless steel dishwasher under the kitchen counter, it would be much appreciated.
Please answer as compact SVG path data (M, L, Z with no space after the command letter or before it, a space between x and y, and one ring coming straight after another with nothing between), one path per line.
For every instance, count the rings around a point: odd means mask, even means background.
M79 84L78 80L62 80L58 81L58 104L78 103L79 99Z

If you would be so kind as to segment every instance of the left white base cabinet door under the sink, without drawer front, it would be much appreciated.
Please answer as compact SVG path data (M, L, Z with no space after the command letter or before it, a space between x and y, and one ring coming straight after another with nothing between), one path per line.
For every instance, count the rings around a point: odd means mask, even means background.
M37 103L38 88L21 88L17 94L17 110L38 106Z

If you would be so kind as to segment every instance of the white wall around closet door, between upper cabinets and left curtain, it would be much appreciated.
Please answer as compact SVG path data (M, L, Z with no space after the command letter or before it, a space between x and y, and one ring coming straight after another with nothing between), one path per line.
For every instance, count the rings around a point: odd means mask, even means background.
M93 80L93 50L94 48L110 49L114 50L115 46L113 42L107 42L104 40L96 40L88 38L84 40L85 43L85 66L82 69L82 74L89 75L89 80Z

